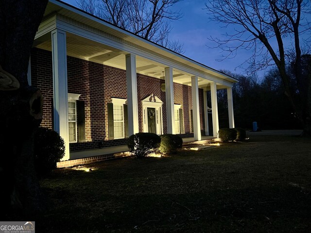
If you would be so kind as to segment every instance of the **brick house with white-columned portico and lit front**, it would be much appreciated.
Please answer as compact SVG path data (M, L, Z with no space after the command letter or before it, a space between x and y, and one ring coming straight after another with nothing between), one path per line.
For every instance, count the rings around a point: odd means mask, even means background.
M124 145L138 132L217 137L217 89L227 90L234 127L236 79L58 0L36 33L28 81L42 91L41 126L65 141L64 160L70 151Z

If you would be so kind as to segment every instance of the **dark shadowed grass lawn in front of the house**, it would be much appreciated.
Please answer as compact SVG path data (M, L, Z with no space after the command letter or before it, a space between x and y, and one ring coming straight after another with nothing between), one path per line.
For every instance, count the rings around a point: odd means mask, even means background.
M311 232L311 140L260 136L57 169L38 232Z

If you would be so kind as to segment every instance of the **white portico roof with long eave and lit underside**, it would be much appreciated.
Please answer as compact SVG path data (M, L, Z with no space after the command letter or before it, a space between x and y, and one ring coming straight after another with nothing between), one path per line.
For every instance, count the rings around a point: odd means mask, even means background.
M137 72L162 79L165 67L173 67L173 82L191 85L198 76L199 88L209 83L217 88L238 82L211 67L159 46L109 22L59 0L50 0L38 28L34 46L52 50L51 32L62 29L67 35L67 54L88 61L125 69L125 54L136 54Z

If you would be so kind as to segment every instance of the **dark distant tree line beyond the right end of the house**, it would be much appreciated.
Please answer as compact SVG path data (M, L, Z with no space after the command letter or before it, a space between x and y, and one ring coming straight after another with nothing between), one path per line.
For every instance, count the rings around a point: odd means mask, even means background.
M291 67L287 67L293 73ZM239 79L234 83L233 105L235 126L251 130L254 121L259 130L302 129L293 107L289 104L286 92L277 69L269 70L262 79L257 76L243 76L223 71ZM294 80L294 78L293 78ZM228 128L227 92L217 91L219 127Z

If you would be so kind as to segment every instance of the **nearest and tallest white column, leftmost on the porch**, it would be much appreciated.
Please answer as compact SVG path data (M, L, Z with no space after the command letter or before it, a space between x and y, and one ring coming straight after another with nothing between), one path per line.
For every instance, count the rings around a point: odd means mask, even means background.
M52 31L52 63L53 63L53 100L54 130L64 139L65 156L69 159L68 130L68 81L67 81L67 48L66 32L55 29Z

